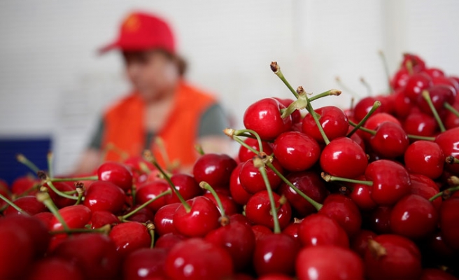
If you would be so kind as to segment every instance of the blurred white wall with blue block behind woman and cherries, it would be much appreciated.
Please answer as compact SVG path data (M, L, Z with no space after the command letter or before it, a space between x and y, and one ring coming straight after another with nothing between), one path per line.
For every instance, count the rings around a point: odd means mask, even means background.
M146 10L169 20L188 80L214 92L243 127L243 112L263 97L291 97L269 63L276 60L293 87L320 93L342 88L362 97L387 91L382 50L393 73L403 52L459 74L459 1L0 1L0 177L14 155L69 172L106 106L129 90L118 52L97 55L115 38L120 20ZM348 107L351 95L315 106ZM45 167L41 167L45 168ZM6 175L5 175L6 174Z

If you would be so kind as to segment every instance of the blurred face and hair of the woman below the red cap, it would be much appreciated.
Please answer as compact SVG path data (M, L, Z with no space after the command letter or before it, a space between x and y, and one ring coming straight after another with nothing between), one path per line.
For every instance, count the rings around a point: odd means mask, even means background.
M158 50L125 51L127 77L146 101L160 99L178 82L176 63Z

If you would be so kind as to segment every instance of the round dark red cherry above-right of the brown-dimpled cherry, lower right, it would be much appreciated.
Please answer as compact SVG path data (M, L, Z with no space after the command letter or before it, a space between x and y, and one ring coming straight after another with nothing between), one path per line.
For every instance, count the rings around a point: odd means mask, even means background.
M437 228L438 215L432 202L419 195L407 195L390 213L390 229L410 239L427 237Z

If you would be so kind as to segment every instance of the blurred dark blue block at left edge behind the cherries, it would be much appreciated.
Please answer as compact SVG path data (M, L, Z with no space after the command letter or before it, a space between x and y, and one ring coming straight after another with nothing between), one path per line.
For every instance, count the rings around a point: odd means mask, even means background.
M29 167L17 162L16 155L22 153L39 168L46 170L46 155L51 148L49 137L41 138L0 138L0 179L8 182L8 186L17 177L31 174Z

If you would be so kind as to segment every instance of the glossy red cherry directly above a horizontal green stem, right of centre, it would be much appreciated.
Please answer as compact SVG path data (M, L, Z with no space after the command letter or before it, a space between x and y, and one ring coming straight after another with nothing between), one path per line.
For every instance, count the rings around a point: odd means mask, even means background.
M334 139L320 155L320 167L332 176L355 178L362 175L368 165L367 155L352 139Z

